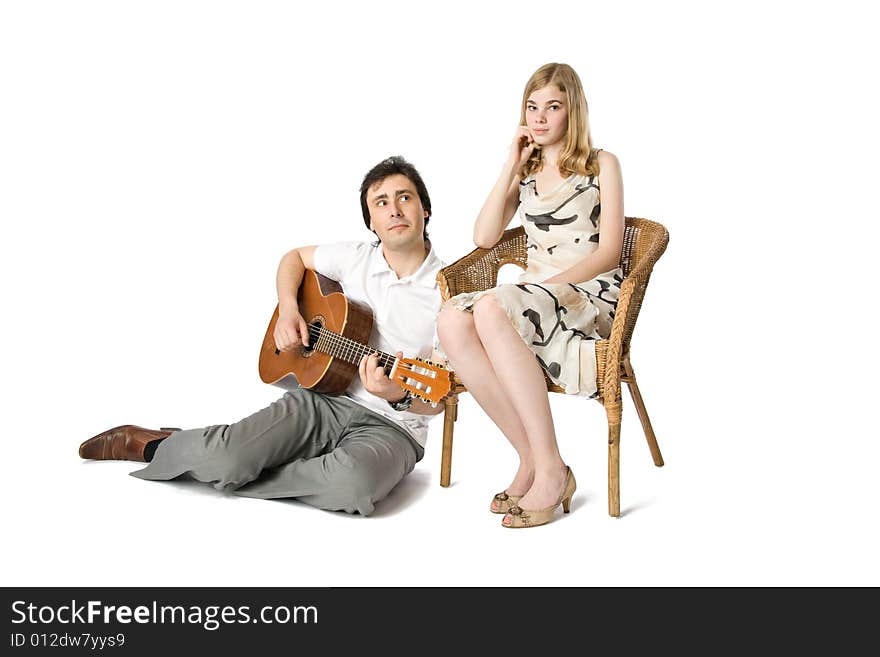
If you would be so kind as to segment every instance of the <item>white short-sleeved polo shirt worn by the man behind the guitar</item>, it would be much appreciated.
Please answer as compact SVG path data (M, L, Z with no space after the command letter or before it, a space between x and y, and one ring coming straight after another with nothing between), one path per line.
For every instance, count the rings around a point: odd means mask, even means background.
M388 266L382 245L368 242L319 246L314 265L319 274L339 282L346 297L373 311L371 347L388 354L402 351L406 357L430 358L441 305L437 272L445 266L433 246L421 267L404 278L398 278ZM345 396L399 424L425 446L432 416L395 411L387 401L367 392L359 376L354 377Z

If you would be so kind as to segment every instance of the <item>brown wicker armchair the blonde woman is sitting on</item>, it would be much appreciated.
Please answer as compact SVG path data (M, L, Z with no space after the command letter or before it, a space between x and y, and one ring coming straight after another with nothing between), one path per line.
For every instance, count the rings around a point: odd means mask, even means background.
M607 340L596 340L596 384L598 401L608 416L608 513L620 516L620 420L622 415L620 382L629 385L633 403L642 422L645 438L656 466L663 465L657 438L648 419L645 404L636 384L629 359L629 345L636 318L645 296L654 263L666 250L669 233L662 225L647 219L626 218L620 266L624 281L617 301L617 312ZM513 263L526 267L526 236L522 227L504 231L501 240L491 249L475 249L437 274L443 300L462 292L476 292L495 287L498 270ZM545 375L546 378L546 375ZM464 384L455 380L455 392L464 392ZM547 390L564 390L547 379ZM458 419L458 400L446 400L443 420L443 451L440 464L440 485L449 486L452 470L452 433Z

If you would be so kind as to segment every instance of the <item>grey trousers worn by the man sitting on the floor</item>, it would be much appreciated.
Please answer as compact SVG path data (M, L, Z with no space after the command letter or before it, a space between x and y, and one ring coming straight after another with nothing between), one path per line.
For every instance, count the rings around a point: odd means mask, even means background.
M156 481L190 475L236 495L295 497L366 516L422 456L390 420L345 397L300 388L235 424L172 433L131 474Z

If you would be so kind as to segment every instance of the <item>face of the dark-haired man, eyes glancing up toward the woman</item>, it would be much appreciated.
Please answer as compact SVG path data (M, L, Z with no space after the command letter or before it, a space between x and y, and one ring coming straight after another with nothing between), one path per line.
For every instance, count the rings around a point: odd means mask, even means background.
M416 186L403 174L396 173L367 190L370 230L388 248L401 249L423 244L428 213L416 192Z

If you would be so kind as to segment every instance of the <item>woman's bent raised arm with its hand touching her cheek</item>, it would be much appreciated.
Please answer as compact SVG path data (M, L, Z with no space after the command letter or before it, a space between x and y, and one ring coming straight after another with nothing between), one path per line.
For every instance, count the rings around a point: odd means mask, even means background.
M529 129L520 126L510 144L510 154L501 169L501 175L489 192L474 224L474 244L481 249L495 246L513 219L519 205L519 171L533 150L535 144Z

